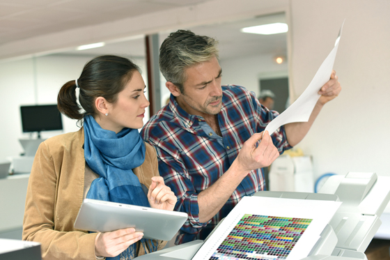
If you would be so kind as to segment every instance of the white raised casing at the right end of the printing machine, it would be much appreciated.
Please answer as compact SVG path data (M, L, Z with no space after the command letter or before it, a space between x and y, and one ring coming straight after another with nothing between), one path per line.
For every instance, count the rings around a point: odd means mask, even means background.
M335 194L343 201L329 223L338 238L331 255L359 259L356 256L364 255L382 224L380 216L390 200L390 177L360 172L335 175L319 193Z

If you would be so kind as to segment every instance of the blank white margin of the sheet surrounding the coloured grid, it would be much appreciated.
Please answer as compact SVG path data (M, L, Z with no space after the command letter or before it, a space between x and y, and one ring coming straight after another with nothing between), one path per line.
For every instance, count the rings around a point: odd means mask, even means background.
M195 254L193 260L210 259L217 251L219 245L226 236L235 228L237 222L245 214L266 215L275 217L297 217L310 219L311 223L299 238L287 258L272 256L269 259L297 260L307 257L315 243L320 238L320 234L331 220L340 201L316 201L308 199L281 199L269 197L244 197L233 208L233 211L224 219L212 236L202 245ZM235 259L224 256L220 259Z

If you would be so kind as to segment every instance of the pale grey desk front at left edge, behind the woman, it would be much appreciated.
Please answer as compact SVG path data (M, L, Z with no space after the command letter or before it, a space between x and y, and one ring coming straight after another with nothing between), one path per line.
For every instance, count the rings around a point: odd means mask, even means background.
M16 174L0 179L0 237L13 231L22 235L24 204L30 174ZM22 239L22 237L19 237Z

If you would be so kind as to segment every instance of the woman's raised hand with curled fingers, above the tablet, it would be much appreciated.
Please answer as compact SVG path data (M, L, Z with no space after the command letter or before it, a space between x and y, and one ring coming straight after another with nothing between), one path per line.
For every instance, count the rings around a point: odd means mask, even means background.
M171 188L164 184L164 179L160 176L152 178L152 184L149 187L148 200L150 207L173 211L176 204L176 196Z

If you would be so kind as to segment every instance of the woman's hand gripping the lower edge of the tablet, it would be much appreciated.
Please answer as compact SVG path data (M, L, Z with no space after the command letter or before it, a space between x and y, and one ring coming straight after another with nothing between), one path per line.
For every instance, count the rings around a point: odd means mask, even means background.
M142 232L136 232L132 227L99 233L95 239L95 255L96 257L116 257L140 240L142 236Z

